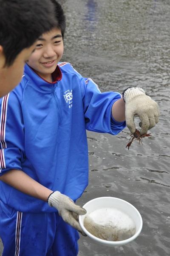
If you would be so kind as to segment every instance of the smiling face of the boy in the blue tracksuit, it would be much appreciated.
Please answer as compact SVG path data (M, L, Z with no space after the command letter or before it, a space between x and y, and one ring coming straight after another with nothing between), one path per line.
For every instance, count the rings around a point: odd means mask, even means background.
M62 58L63 41L61 30L54 28L40 36L36 49L27 64L46 81L51 82L51 74Z

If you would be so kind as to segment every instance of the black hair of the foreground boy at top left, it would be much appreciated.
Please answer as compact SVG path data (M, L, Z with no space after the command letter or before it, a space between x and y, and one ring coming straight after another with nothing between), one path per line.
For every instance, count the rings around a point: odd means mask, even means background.
M0 45L5 66L44 32L57 26L54 4L49 0L0 0Z

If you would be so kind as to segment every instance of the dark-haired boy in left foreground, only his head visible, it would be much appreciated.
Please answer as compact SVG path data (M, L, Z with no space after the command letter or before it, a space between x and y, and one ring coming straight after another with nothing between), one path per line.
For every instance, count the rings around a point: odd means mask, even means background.
M35 41L55 23L49 0L0 0L0 97L20 82Z

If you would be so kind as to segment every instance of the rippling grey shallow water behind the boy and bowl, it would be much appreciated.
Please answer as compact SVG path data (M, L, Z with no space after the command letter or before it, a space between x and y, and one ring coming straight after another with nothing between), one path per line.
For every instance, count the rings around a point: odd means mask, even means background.
M170 255L170 1L59 0L67 16L65 54L101 91L142 87L160 106L160 121L143 145L88 132L89 185L80 205L114 196L141 213L140 236L121 247L79 239L79 256Z

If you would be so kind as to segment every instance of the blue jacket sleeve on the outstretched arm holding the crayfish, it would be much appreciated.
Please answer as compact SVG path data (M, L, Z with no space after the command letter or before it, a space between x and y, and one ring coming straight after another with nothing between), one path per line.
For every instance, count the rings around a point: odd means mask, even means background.
M111 115L112 105L122 96L116 92L101 93L92 79L80 81L86 129L112 135L118 134L126 127L125 122L116 122Z

